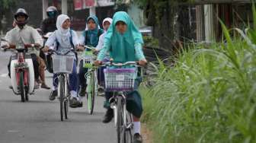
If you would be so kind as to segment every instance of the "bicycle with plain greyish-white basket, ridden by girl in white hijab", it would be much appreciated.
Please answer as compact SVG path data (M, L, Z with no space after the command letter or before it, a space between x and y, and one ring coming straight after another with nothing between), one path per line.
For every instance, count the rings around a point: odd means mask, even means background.
M60 106L60 119L63 121L63 112L65 119L68 119L69 112L69 74L72 73L74 56L69 55L73 52L71 49L62 49L60 52L50 50L53 53L53 73L58 78L58 98ZM55 79L53 79L55 80Z

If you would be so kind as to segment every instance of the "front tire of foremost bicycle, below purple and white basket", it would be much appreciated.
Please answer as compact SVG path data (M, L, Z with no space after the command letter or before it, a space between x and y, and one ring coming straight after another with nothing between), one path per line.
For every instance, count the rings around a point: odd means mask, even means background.
M122 97L117 97L117 143L121 143L123 129Z

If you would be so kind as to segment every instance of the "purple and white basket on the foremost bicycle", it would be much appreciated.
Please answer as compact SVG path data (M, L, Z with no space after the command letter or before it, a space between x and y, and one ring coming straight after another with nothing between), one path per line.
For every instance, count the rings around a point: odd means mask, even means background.
M136 78L135 68L105 68L106 91L133 91Z

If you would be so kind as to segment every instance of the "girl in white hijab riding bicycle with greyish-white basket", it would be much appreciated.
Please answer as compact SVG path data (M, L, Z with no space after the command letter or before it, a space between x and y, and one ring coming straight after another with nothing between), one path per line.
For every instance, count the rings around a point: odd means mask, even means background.
M56 51L62 49L77 49L83 50L82 46L79 46L78 37L74 30L70 30L71 21L69 17L65 14L61 14L57 17L56 27L57 30L48 38L46 41L43 52L47 52L50 49L50 46L55 45ZM75 54L73 54L75 56ZM75 59L76 60L76 59ZM57 82L56 82L56 74L53 75L53 91L50 94L49 99L55 100L57 96ZM73 64L72 74L69 74L69 90L72 96L72 100L70 101L70 107L82 107L82 101L77 95L78 89L78 77L76 71L76 64Z

